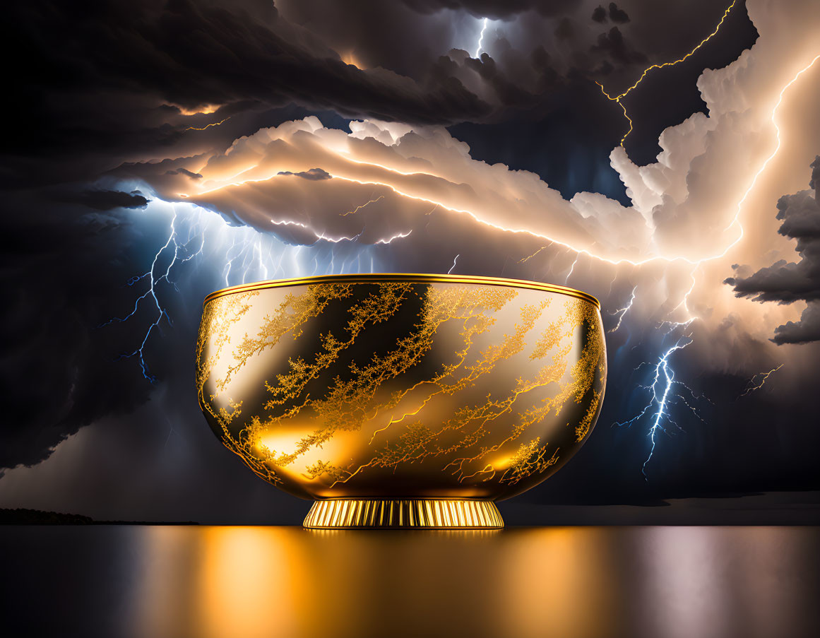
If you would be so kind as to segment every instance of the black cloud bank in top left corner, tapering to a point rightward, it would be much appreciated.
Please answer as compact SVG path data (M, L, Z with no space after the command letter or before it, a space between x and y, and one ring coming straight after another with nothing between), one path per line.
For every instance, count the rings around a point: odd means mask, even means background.
M289 103L428 123L492 112L453 77L422 86L385 68L348 65L321 39L282 19L272 2L258 5L267 9L189 0L12 5L7 20L21 28L5 45L8 55L27 52L25 71L11 69L17 104L25 108L7 131L0 177L19 185L41 157L80 148L111 157L175 144L191 123L171 105L227 105L207 123L235 116L237 108ZM74 157L73 166L57 163L52 170L66 175L78 162Z

